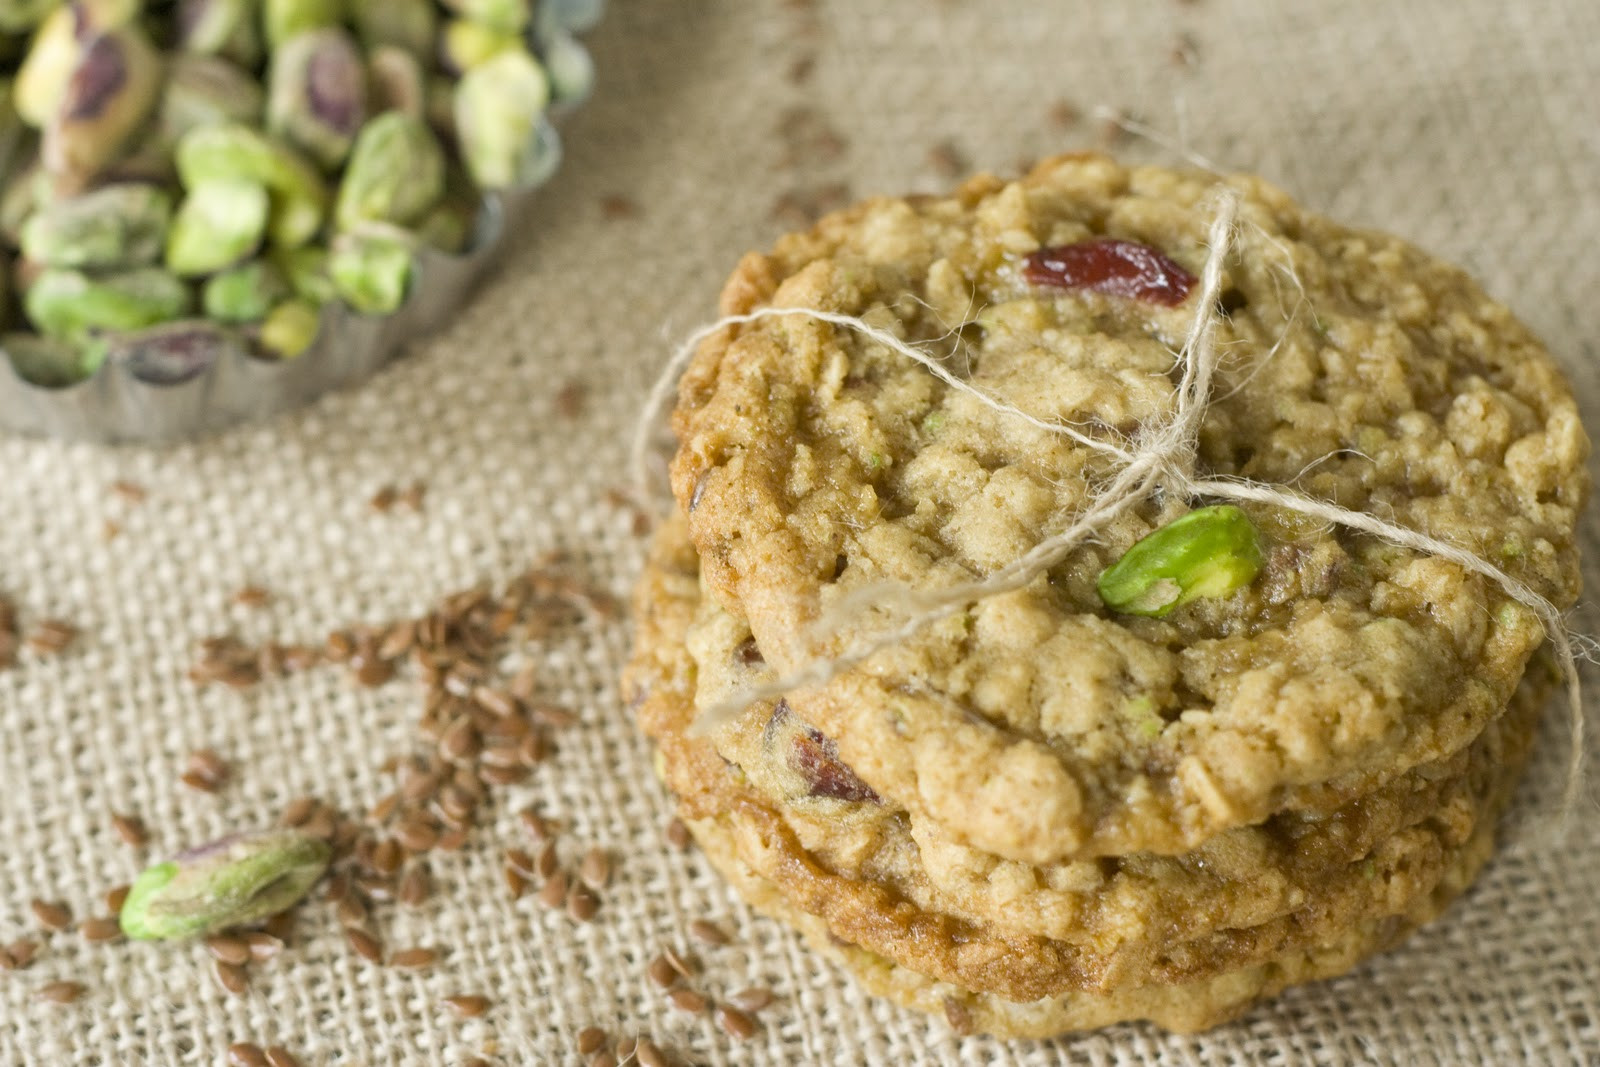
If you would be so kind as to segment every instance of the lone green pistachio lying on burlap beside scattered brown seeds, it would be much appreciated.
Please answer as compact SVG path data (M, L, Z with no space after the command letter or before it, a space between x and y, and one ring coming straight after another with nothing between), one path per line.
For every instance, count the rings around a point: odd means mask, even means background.
M299 830L238 833L155 864L134 878L122 931L134 941L203 937L299 902L333 849Z

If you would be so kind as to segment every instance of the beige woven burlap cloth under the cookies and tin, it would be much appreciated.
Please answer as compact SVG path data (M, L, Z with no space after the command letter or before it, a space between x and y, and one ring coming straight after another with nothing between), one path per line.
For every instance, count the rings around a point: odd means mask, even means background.
M149 822L154 854L298 793L362 809L384 790L379 763L411 742L411 685L362 691L318 670L200 691L184 680L195 638L314 640L555 547L626 593L642 542L606 491L646 379L714 315L736 258L843 187L931 190L949 184L952 155L1010 171L1096 144L1096 104L1464 262L1546 336L1600 426L1597 38L1600 6L1586 0L614 0L592 35L600 93L568 128L563 173L504 270L411 360L310 411L171 451L0 442L0 589L26 619L85 629L64 657L0 675L0 942L35 928L30 897L91 915L134 873L147 854L117 840L112 809ZM954 154L930 155L946 142ZM606 197L637 214L611 218L626 213ZM563 418L555 394L576 381L587 405ZM115 496L118 478L149 498ZM368 509L381 485L416 478L424 514ZM1600 525L1586 530L1595 582ZM272 605L230 606L246 582ZM1597 629L1582 611L1579 625ZM1525 817L1522 843L1403 950L1232 1027L960 1040L867 1000L699 857L661 845L667 801L616 693L626 646L624 625L592 625L549 653L584 725L502 793L498 824L435 861L435 902L386 910L390 945L438 945L442 965L368 965L323 905L245 998L214 985L195 947L58 936L29 971L0 974L0 1061L221 1064L230 1041L253 1040L306 1064L557 1064L578 1062L573 1038L597 1024L706 1064L1600 1062L1594 790L1557 845ZM1557 774L1560 731L1546 734L1523 813ZM198 745L237 766L214 798L176 782ZM499 885L512 813L530 800L622 857L592 926L512 904ZM702 987L770 984L781 998L749 1043L674 1013L643 977L702 915L738 936L706 953ZM90 992L35 1003L56 977ZM493 1011L438 1011L466 992L493 997Z

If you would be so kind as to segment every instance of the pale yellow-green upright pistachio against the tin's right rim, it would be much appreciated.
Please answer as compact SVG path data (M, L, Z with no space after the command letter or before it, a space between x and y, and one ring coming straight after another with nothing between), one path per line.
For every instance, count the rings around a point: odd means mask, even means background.
M480 189L509 189L528 181L534 131L550 102L544 70L525 51L494 56L462 75L456 86L456 138Z

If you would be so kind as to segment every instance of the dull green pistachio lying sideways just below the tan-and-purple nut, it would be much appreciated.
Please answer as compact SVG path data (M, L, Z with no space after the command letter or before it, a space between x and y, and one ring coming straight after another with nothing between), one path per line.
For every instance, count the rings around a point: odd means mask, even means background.
M141 267L162 258L173 198L144 184L59 200L22 224L22 254L50 267Z

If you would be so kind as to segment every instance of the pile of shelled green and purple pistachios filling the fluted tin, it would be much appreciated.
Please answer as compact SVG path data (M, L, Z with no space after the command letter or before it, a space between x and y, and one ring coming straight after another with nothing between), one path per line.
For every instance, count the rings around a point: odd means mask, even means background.
M563 78L534 0L0 0L0 347L66 386L118 346L301 355L530 181ZM576 46L574 51L581 53Z

